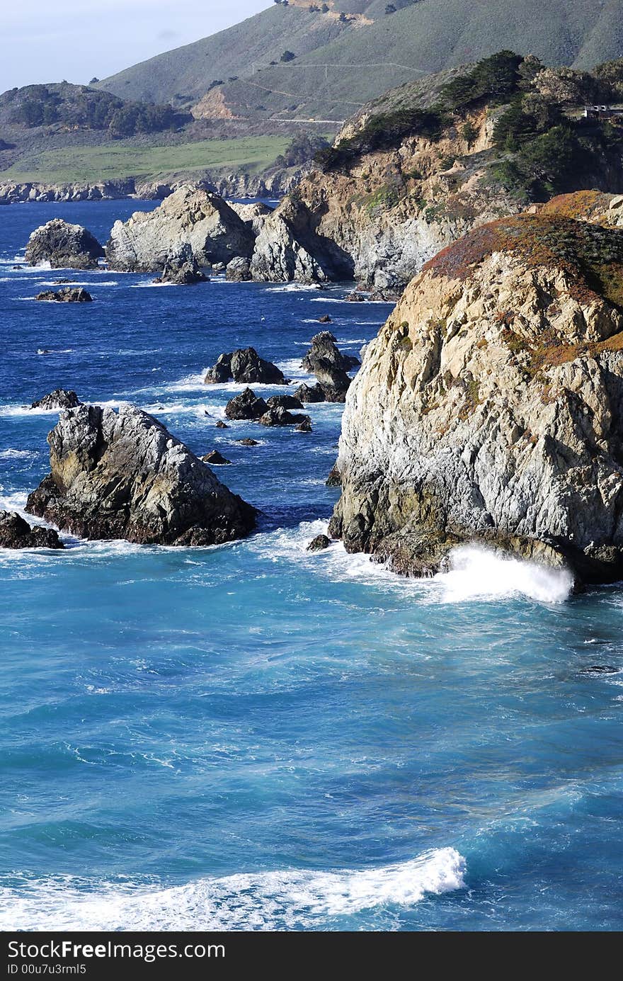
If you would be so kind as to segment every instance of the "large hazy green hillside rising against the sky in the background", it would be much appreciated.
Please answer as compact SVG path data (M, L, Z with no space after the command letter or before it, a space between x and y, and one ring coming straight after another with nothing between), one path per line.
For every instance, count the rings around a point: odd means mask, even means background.
M294 3L275 4L100 87L180 105L183 96L187 105L223 79L204 118L343 120L391 86L504 48L575 68L623 55L623 0L394 0L390 15L381 0L331 0L325 14L310 11L307 0ZM357 19L340 23L339 11ZM282 63L286 49L296 57Z

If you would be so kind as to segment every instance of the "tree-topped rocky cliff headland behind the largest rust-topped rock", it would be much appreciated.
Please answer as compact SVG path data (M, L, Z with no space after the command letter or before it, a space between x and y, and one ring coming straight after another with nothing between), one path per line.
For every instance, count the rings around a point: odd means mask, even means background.
M501 52L389 91L341 130L260 233L257 279L399 291L442 247L557 191L623 191L623 62L594 75Z

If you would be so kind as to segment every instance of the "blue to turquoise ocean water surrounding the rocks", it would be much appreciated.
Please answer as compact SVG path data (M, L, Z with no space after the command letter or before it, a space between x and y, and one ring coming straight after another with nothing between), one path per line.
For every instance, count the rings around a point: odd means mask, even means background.
M239 387L202 372L253 344L302 379L323 313L356 353L390 308L117 273L76 276L93 304L32 302L59 276L12 270L34 227L105 239L137 206L0 208L0 505L47 472L56 414L24 406L60 386L218 447L262 523L0 552L0 928L621 929L621 587L571 596L476 548L430 582L307 553L340 406L311 435L217 430Z

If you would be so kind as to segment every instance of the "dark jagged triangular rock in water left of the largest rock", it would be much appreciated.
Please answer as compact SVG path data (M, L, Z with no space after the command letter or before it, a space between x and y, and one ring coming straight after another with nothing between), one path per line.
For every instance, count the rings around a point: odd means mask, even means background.
M81 405L48 436L51 473L26 510L88 539L211 545L248 535L255 509L152 416Z

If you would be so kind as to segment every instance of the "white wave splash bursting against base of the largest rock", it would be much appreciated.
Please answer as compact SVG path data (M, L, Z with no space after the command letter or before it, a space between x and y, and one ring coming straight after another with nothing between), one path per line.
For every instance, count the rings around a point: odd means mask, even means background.
M566 569L509 558L480 545L460 545L450 555L449 572L436 576L445 602L525 595L543 603L562 603L573 589Z

